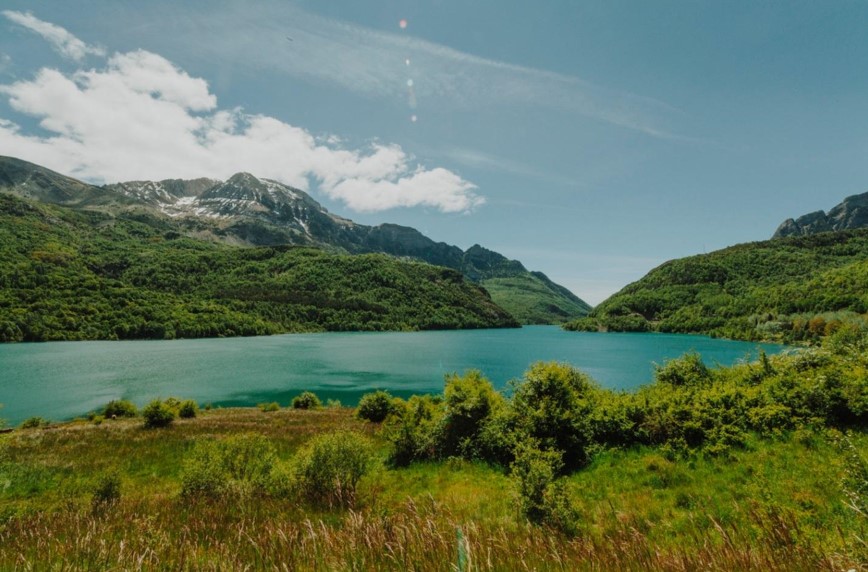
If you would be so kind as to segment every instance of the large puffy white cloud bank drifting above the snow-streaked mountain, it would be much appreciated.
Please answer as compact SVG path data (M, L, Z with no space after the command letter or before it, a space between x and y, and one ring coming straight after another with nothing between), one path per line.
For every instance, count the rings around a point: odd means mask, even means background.
M94 182L219 177L249 171L359 211L426 206L444 212L483 203L476 187L426 169L397 145L346 149L339 138L241 109L219 109L201 78L146 51L115 54L101 69L41 69L0 86L13 110L48 135L0 119L0 154Z

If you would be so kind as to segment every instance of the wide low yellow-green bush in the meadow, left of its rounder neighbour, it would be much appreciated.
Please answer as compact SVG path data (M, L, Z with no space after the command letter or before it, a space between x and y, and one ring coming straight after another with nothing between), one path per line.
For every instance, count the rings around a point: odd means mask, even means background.
M274 445L262 435L199 442L184 462L181 495L218 498L264 492L276 463Z

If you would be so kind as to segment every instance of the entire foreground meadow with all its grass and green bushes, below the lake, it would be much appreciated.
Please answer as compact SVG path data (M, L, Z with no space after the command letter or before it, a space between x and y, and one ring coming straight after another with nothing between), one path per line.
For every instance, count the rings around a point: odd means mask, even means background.
M0 434L0 570L868 570L862 329L632 392L551 362L280 405Z

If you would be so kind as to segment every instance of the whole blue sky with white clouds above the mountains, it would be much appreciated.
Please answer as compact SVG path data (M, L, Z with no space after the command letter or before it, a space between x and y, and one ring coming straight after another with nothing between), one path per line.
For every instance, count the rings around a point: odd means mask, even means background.
M868 191L865 1L3 9L0 154L93 182L250 171L591 303Z

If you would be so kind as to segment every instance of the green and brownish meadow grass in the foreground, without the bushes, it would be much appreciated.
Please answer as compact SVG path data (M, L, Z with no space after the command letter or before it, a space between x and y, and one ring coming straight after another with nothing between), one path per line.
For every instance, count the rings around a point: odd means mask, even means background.
M352 510L293 498L190 501L183 460L201 439L266 436L291 459L334 430L373 439L377 468ZM845 505L838 434L749 440L726 456L668 460L659 449L598 453L568 477L578 537L519 516L505 471L449 459L391 469L379 426L349 408L203 411L167 429L141 419L0 435L0 569L451 570L461 527L470 569L862 569L868 522ZM868 436L853 443L863 453ZM100 478L121 498L97 510Z

